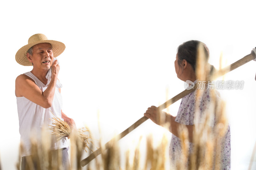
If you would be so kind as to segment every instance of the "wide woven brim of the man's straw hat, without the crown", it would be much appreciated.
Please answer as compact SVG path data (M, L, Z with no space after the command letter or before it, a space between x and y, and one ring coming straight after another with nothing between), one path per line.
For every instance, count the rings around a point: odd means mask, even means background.
M34 43L30 43L30 44L27 44L27 45L21 47L17 51L17 53L15 55L15 60L17 61L17 63L19 63L20 65L24 65L24 66L32 66L32 63L30 63L27 58L28 49L33 47L36 44L45 43L45 42L50 43L52 45L52 52L53 52L54 57L59 56L66 48L65 44L63 44L60 41L54 41L54 40L44 40L44 41L37 41Z

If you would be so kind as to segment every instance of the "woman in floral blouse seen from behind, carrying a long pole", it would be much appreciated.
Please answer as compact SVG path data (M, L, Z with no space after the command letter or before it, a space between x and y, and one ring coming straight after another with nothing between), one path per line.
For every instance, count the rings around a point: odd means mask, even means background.
M209 50L204 43L200 41L187 41L178 47L174 66L177 77L180 80L184 82L190 80L194 83L200 81L196 77L196 65L198 63L197 51L200 45L203 47L202 51L205 54L206 63L204 64L208 65ZM211 103L220 103L219 93L215 89L212 90L212 88L207 86L201 91L202 95L199 95L199 91L200 90L195 90L182 98L176 117L161 112L155 106L149 107L146 113L144 113L144 116L148 117L158 125L163 125L159 122L159 115L162 113L165 117L165 123L170 124L169 131L172 133L172 139L169 155L172 167L176 169L198 169L199 167L203 167L204 169L205 167L207 167L207 169L230 169L229 126L226 126L227 128L222 128L225 129L224 132L223 130L221 132L220 130L218 131L217 125L220 125L218 123L223 115L216 109L218 108L218 104L215 105L215 107L211 107ZM213 113L214 115L212 116L212 119L210 113ZM197 133L200 131L199 127L203 127L201 130L206 129L205 121L208 121L206 132L210 131L212 138L207 136L208 138L205 139L203 138L203 135L200 136L200 133ZM184 147L186 141L181 139L181 133L184 131L180 129L185 129L188 132L187 141L189 142L187 142L187 152L186 147ZM208 143L205 142L205 140L208 140ZM199 143L201 145L198 145ZM213 152L209 151L209 148L211 147L206 144L212 144ZM210 159L206 159L206 155Z

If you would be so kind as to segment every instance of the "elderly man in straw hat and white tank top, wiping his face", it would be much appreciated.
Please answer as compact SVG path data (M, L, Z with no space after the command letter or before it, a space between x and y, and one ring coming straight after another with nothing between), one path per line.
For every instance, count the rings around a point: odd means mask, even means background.
M58 80L60 66L54 57L60 55L65 45L59 41L48 40L44 34L35 34L28 39L28 44L16 53L16 61L24 66L32 66L33 69L16 78L15 95L20 123L20 140L22 144L21 168L27 169L28 162L33 160L31 139L40 141L42 129L45 125L52 124L49 118L53 115L62 118L73 128L75 122L62 112L62 98ZM49 73L51 72L51 75ZM48 74L47 74L48 73ZM48 76L48 77L47 77ZM63 169L69 168L68 144L66 137L57 140L53 137L51 142L52 159L54 151L62 152ZM32 155L32 156L31 156ZM36 161L34 166L36 168Z

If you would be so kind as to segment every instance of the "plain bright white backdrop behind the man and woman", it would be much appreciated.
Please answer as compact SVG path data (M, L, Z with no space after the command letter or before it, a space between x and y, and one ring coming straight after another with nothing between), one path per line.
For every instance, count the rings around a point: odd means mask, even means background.
M0 158L3 169L18 161L19 122L15 78L32 67L15 54L35 33L66 45L60 60L63 111L78 127L88 126L103 141L132 125L151 105L184 90L174 70L177 47L204 42L210 63L219 68L250 54L255 41L255 1L4 1L0 5ZM255 62L228 73L244 80L243 90L222 90L231 124L232 169L248 169L256 141ZM166 95L166 89L169 89ZM176 115L180 101L169 107ZM164 128L147 121L120 140L121 155L136 139ZM142 153L143 154L143 153ZM84 155L84 158L86 155ZM253 168L256 168L254 158Z

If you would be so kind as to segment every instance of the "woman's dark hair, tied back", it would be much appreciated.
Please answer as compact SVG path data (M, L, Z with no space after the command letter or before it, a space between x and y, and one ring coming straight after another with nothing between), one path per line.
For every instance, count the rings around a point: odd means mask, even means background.
M206 57L205 61L208 62L208 59L209 59L208 47L200 41L191 40L191 41L184 42L178 47L177 49L178 63L181 65L182 60L185 59L192 66L192 68L196 70L197 48L199 47L200 44L202 44L204 47L204 53Z

